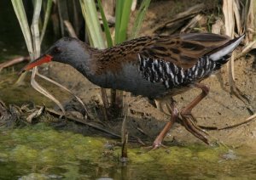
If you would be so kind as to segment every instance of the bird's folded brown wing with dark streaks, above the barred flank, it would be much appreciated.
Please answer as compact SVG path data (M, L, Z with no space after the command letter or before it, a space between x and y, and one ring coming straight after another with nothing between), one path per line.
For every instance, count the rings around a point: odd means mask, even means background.
M230 41L230 37L210 33L190 33L172 37L160 36L145 46L143 58L163 59L189 69L206 53Z

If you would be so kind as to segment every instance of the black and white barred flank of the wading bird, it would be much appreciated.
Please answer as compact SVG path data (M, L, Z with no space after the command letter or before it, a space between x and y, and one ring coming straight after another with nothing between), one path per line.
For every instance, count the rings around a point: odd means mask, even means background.
M209 59L208 56L200 58L194 66L187 70L162 59L143 58L140 54L138 54L138 59L139 70L142 71L144 78L150 82L163 82L166 88L185 86L199 81L220 68L220 65Z

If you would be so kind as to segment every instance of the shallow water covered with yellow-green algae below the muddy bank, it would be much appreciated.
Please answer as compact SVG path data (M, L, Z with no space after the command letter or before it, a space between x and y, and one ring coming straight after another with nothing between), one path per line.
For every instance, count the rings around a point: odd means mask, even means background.
M119 162L113 140L56 131L39 123L0 129L0 179L215 179L256 177L252 150L202 145L148 151L130 148L129 162ZM111 147L111 148L109 148Z

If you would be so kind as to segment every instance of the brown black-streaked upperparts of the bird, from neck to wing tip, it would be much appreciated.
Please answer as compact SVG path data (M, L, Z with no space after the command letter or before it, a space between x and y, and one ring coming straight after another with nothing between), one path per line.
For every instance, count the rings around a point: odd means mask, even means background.
M189 69L202 56L229 41L230 37L210 33L140 37L102 50L96 55L92 68L96 74L104 70L117 71L125 63L137 63L140 53L143 58L162 59Z

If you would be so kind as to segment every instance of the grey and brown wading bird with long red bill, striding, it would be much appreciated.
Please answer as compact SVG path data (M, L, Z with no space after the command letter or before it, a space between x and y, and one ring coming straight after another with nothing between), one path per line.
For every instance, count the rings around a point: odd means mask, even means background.
M205 131L196 125L191 113L209 93L209 87L201 81L229 61L244 37L231 39L212 33L154 35L106 49L91 48L77 38L62 37L22 71L56 61L73 66L99 87L168 102L171 118L155 138L153 149L163 146L163 139L179 117L189 132L208 143ZM201 93L182 110L177 110L173 96L193 87L200 88Z

